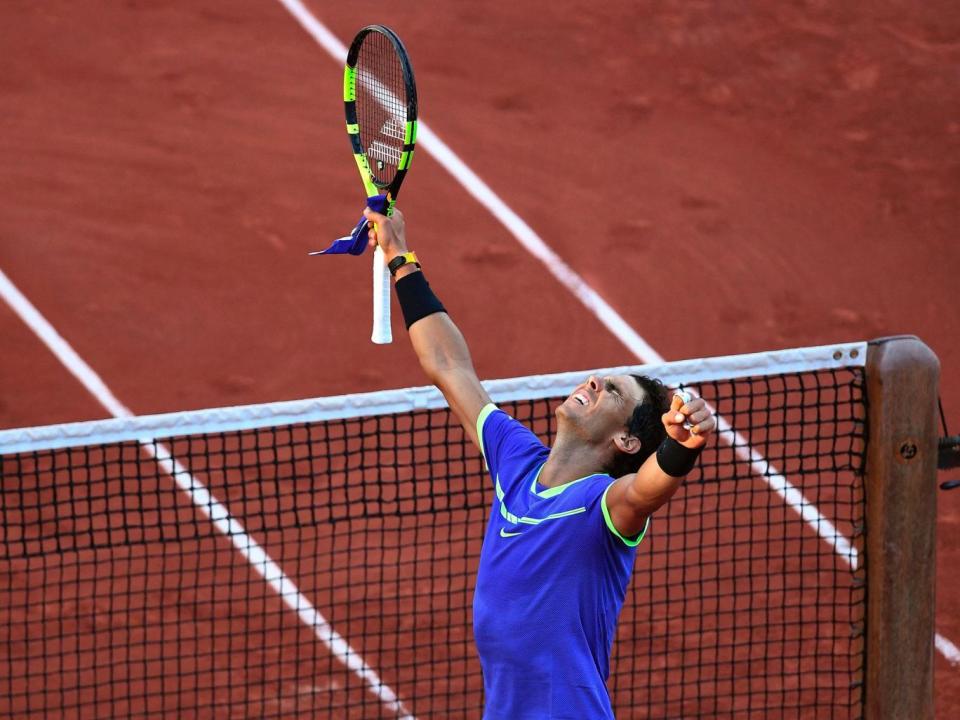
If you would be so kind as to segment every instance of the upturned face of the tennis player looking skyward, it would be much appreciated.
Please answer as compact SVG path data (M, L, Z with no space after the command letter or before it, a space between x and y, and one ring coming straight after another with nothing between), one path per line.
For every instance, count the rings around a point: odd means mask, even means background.
M642 400L643 390L629 375L591 375L563 401L557 415L601 438L621 432Z

